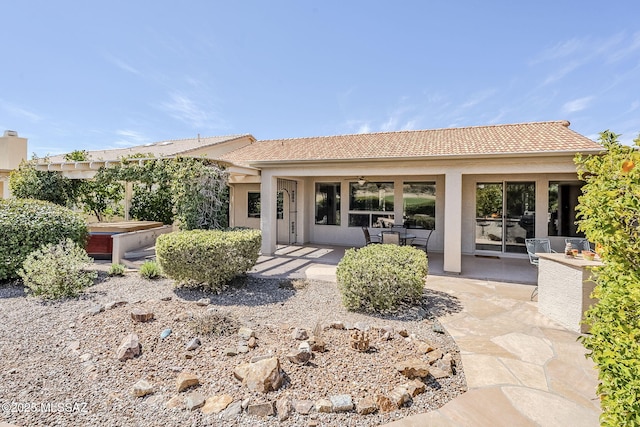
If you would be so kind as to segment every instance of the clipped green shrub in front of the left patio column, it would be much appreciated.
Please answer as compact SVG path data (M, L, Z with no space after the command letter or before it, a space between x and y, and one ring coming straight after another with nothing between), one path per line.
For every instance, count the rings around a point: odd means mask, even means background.
M258 260L259 230L190 230L163 234L156 256L165 274L179 286L204 285L220 291Z

